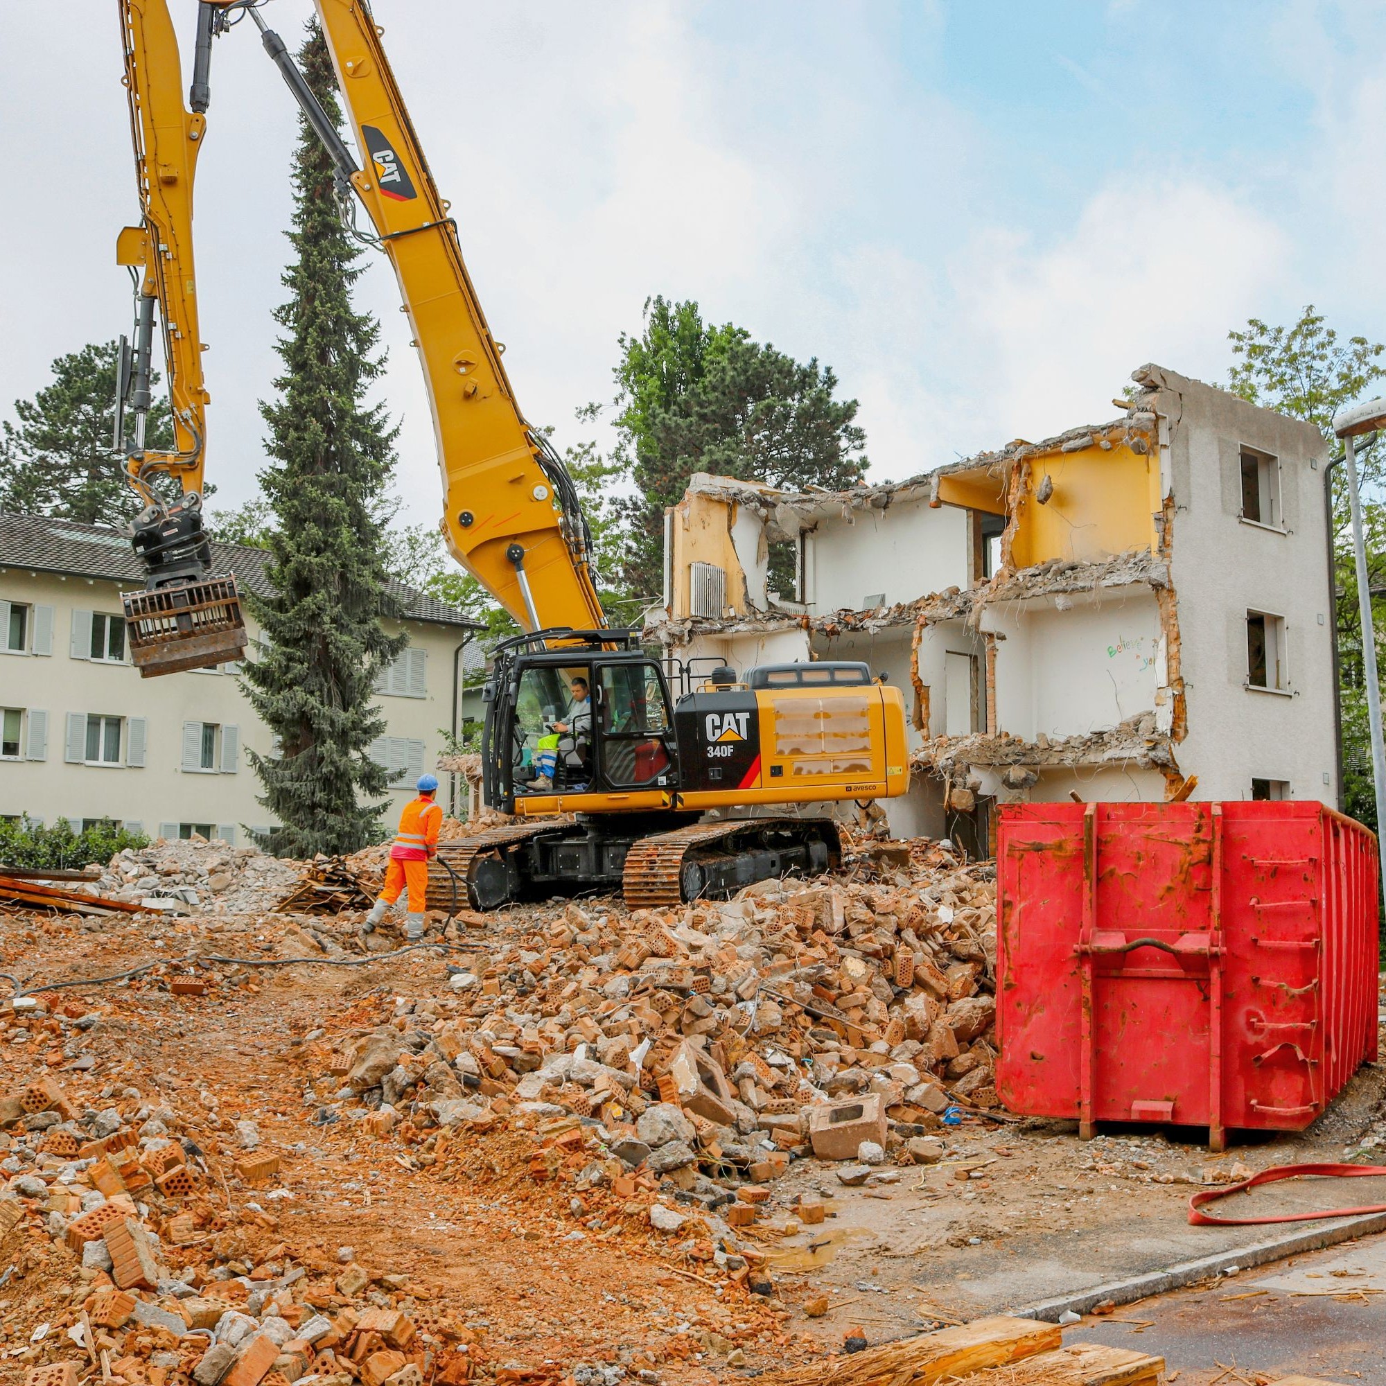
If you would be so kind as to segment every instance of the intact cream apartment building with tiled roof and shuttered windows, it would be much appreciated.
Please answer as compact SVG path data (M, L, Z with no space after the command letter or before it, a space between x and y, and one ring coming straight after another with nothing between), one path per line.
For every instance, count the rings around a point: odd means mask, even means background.
M262 549L213 549L216 571L270 593ZM247 760L273 753L270 732L236 665L140 678L126 657L121 592L141 585L114 529L0 516L0 816L245 841L247 827L276 826ZM409 588L395 596L409 646L377 683L388 725L371 754L396 782L398 811L437 762L442 733L460 725L462 665L478 626ZM259 632L247 625L254 650Z

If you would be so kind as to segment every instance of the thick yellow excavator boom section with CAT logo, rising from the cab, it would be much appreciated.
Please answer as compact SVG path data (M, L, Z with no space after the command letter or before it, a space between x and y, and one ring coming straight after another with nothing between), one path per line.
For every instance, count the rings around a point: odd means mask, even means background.
M225 0L202 0L223 4ZM283 40L251 17L305 118L355 190L399 281L424 370L453 557L528 631L602 629L590 534L572 478L516 403L486 326L457 223L434 186L365 0L316 0L360 168L308 89Z

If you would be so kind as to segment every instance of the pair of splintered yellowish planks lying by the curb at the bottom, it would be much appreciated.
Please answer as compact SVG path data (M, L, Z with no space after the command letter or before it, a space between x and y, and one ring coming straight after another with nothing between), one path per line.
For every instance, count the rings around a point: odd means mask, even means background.
M1157 1386L1163 1357L1099 1343L1060 1346L1056 1324L979 1318L972 1324L868 1347L791 1372L765 1386Z

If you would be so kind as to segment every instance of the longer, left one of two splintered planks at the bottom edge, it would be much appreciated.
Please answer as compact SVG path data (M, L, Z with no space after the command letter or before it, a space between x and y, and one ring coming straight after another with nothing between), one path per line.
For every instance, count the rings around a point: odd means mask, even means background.
M945 1376L965 1376L1003 1367L1059 1347L1058 1324L1033 1318L979 1318L936 1333L868 1347L812 1367L768 1372L761 1386L933 1386Z

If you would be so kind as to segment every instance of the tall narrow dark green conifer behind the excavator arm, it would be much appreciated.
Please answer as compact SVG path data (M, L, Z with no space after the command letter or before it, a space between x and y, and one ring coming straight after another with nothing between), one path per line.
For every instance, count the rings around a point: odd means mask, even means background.
M327 46L309 26L299 62L338 123ZM262 403L270 464L261 486L276 524L267 536L276 595L249 597L266 642L247 668L255 711L279 737L251 755L261 802L283 825L277 852L351 852L380 836L385 771L367 747L385 729L373 704L376 675L406 643L381 618L398 617L381 559L378 503L394 466L396 430L366 392L378 378L380 328L352 309L362 251L342 230L333 172L306 121L294 157L295 261L288 302L276 313L284 374ZM360 802L365 796L369 802Z

